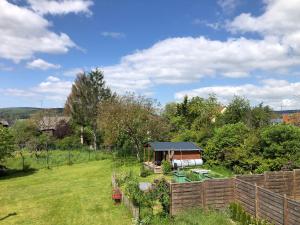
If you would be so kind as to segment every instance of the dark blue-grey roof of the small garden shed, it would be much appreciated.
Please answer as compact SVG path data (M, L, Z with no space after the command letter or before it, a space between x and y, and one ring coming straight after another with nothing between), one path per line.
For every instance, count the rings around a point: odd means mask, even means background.
M150 142L149 145L154 151L202 151L192 142Z

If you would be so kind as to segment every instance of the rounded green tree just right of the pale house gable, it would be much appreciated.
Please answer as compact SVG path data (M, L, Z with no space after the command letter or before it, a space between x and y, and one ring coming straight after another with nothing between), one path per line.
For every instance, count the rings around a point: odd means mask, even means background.
M251 107L248 99L234 96L232 101L226 107L226 111L221 116L221 120L225 124L234 124L243 122L249 124L251 115Z

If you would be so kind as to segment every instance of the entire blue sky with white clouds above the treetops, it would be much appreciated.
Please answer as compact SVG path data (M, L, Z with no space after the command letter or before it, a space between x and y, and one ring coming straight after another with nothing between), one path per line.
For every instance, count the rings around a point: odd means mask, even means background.
M300 0L0 0L0 107L63 107L99 68L161 104L300 108Z

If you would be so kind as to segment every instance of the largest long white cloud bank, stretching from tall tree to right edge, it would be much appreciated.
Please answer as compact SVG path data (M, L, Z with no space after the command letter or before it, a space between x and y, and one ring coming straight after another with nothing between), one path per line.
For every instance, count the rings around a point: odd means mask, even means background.
M299 64L300 57L291 55L289 46L273 39L216 41L184 37L160 41L103 70L112 86L142 90L155 84L191 83L205 77L245 77L257 70L288 69Z

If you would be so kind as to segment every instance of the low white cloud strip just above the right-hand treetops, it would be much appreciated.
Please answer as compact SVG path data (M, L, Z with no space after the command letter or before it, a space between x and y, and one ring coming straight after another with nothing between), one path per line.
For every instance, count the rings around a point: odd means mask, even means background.
M216 94L220 101L227 104L234 95L247 97L252 104L270 105L276 110L296 109L300 107L300 82L290 83L286 80L268 79L259 85L244 84L240 86L211 86L182 91L175 94L176 99L185 95L190 97L208 97Z

